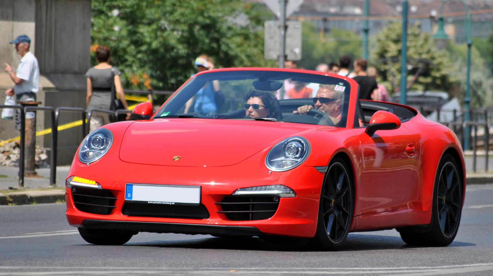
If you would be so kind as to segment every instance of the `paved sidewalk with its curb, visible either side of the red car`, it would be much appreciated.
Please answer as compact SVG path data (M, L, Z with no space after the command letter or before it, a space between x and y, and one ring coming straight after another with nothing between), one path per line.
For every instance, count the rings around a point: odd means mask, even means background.
M0 205L23 205L33 203L55 203L65 201L65 180L70 166L58 166L56 187L49 184L50 169L36 169L40 178L24 178L25 188L19 189L19 168L0 166ZM466 184L493 183L493 173L467 172ZM9 189L10 188L10 189ZM13 191L13 189L17 189ZM8 191L4 192L3 191Z

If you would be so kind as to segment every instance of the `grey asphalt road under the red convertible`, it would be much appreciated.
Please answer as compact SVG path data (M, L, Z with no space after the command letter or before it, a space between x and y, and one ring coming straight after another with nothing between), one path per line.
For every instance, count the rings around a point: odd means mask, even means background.
M64 211L63 204L0 206L0 276L493 275L493 184L467 186L458 236L447 247L408 246L395 230L352 233L338 252L154 233L89 245Z

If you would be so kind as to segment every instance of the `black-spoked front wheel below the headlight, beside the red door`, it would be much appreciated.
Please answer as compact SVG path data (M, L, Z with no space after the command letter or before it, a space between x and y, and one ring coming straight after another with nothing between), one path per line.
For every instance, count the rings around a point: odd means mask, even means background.
M309 247L319 250L337 250L348 237L354 210L352 173L341 157L329 164L320 193L317 232Z

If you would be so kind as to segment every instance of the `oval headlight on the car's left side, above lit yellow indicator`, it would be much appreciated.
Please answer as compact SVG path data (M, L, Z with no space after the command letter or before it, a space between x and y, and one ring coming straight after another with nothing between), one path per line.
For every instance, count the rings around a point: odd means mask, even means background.
M113 133L107 128L98 128L89 133L79 148L79 161L91 163L103 157L113 143Z

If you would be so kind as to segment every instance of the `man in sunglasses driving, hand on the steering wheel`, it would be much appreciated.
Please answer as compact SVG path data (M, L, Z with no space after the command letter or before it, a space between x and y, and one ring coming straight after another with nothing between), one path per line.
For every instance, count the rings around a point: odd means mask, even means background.
M335 90L335 85L321 84L318 87L317 94L313 98L315 106L300 106L293 113L307 114L312 108L315 108L325 113L332 120L332 123L339 123L341 121L341 100L343 92Z

